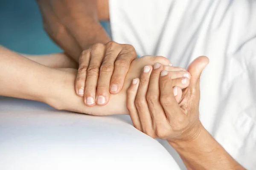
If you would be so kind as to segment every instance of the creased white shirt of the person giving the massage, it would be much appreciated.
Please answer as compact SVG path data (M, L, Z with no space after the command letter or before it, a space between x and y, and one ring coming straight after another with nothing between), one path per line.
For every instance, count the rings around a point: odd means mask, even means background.
M247 169L256 169L256 1L110 0L113 40L180 67L209 57L200 119Z

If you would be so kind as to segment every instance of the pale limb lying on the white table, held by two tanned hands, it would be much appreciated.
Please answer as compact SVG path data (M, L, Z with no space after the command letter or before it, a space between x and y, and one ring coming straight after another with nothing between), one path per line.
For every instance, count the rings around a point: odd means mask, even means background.
M155 62L167 65L169 60L153 56L134 60L122 91L111 94L105 106L88 107L84 105L83 98L72 90L76 79L75 69L63 71L49 68L0 47L0 96L36 100L57 109L92 115L126 114L126 89L131 80L140 76L144 65L153 65Z

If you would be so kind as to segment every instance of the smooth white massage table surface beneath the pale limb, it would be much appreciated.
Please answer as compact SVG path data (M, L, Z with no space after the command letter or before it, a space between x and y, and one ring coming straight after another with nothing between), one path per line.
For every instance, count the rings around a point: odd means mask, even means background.
M186 169L128 115L90 116L0 96L0 170Z

